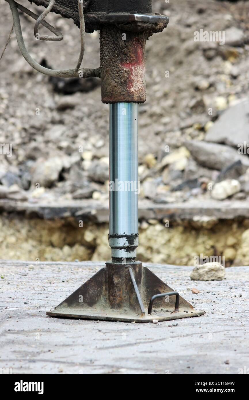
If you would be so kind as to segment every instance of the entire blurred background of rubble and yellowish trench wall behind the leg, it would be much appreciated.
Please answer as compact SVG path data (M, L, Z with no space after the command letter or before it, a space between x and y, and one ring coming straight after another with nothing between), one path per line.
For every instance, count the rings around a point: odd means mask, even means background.
M2 53L12 15L0 5ZM153 11L170 22L147 42L138 259L193 265L202 253L224 256L226 266L249 265L249 2L157 0ZM37 62L76 65L72 20L49 14L64 39L39 42L34 20L20 18ZM225 32L225 44L195 41L201 29ZM98 32L86 34L82 66L99 66ZM0 258L110 259L108 106L100 80L39 74L13 32L0 61L0 145Z

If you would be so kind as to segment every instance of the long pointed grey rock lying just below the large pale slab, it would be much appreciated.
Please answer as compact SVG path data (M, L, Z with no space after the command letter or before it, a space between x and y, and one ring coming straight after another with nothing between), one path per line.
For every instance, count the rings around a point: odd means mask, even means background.
M237 160L241 160L243 165L249 166L249 157L239 154L230 146L198 140L185 142L185 146L191 152L192 157L207 168L222 170Z

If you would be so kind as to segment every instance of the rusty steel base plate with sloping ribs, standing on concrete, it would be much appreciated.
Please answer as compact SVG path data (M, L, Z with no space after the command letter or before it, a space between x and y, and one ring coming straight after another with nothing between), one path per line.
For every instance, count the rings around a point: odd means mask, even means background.
M46 315L60 318L92 319L121 322L152 322L197 317L196 311L181 296L179 311L175 310L175 296L156 298L148 314L151 298L155 294L173 290L141 262L129 265L106 262L92 278Z

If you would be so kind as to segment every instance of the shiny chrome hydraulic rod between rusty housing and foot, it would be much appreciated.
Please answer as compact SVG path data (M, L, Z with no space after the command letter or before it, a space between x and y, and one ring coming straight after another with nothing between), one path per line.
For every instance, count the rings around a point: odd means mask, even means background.
M113 261L136 257L139 188L138 104L109 104L109 245Z

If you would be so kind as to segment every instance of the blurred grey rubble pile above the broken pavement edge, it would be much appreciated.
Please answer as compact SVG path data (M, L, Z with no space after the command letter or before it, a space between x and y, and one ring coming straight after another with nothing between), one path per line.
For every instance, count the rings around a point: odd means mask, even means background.
M11 16L3 8L7 34ZM140 198L245 200L249 195L249 5L237 2L155 2L171 21L147 44L147 103L140 108ZM66 44L49 63L70 63L78 31L53 15ZM236 26L235 27L235 20ZM225 32L225 44L196 42L201 28ZM218 29L219 27L219 29ZM54 44L29 39L44 55ZM4 34L2 35L4 38ZM87 35L85 59L98 62L98 33ZM70 57L65 58L65 54ZM14 35L1 66L0 198L39 202L108 198L108 107L98 80L50 82L22 60ZM46 62L44 59L42 62ZM60 79L61 81L61 79ZM70 88L71 86L71 88ZM60 90L58 90L60 88ZM82 94L82 92L84 92ZM3 149L4 150L4 149ZM9 154L8 154L9 150ZM10 154L11 150L11 154ZM2 151L3 153L4 151Z

